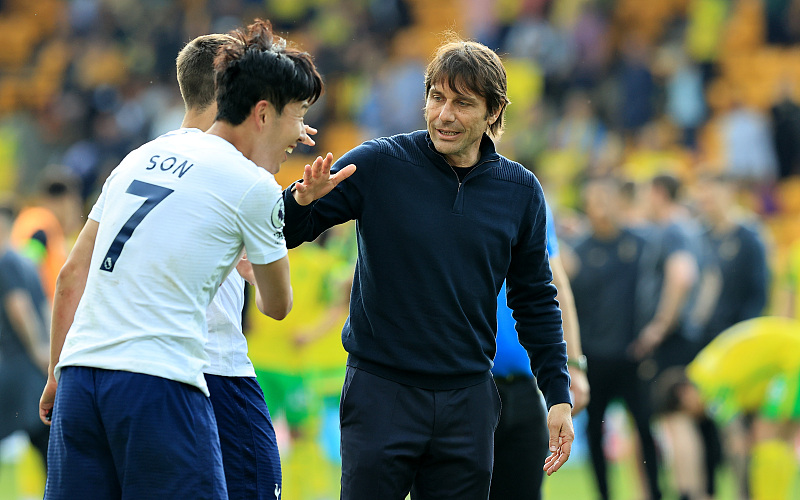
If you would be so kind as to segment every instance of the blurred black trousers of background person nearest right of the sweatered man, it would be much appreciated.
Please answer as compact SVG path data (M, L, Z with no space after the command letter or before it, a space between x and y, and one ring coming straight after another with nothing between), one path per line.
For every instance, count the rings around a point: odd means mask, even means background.
M653 434L650 432L650 398L646 384L639 379L636 363L628 360L592 359L591 368L586 373L592 398L587 408L588 424L586 427L589 439L589 452L592 468L597 479L600 498L608 500L608 473L606 457L603 450L603 417L611 400L621 398L633 416L633 422L642 443L642 458L647 474L646 485L650 498L661 498L658 487L658 467L656 447Z

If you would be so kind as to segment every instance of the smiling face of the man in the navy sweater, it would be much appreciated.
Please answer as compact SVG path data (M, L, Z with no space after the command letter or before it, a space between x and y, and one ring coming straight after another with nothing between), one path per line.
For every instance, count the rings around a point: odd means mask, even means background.
M431 85L425 102L425 121L433 145L457 167L471 167L478 161L481 138L500 114L498 110L490 115L486 99L465 92L437 83Z

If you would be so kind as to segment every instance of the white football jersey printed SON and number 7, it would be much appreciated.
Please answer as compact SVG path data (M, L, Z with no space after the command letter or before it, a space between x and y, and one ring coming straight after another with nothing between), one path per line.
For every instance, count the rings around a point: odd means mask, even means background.
M286 256L283 198L228 141L180 129L131 152L106 180L86 289L56 367L91 366L208 388L206 310L244 247Z

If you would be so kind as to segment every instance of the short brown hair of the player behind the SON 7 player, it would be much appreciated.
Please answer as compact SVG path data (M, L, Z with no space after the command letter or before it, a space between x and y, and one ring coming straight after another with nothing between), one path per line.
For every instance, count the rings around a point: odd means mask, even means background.
M175 60L178 86L187 109L203 111L214 102L214 59L220 47L234 41L225 34L203 35L187 43L178 53Z

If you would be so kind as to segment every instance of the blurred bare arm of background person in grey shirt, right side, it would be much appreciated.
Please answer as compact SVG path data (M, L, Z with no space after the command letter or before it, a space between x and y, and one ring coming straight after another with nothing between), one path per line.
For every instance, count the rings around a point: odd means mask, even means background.
M675 328L697 275L697 260L690 252L681 250L667 258L656 313L633 344L633 354L637 359L652 353Z

